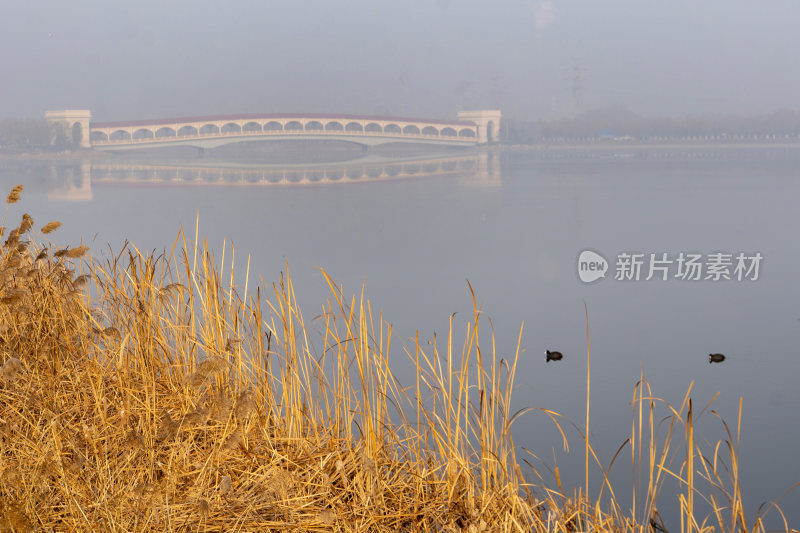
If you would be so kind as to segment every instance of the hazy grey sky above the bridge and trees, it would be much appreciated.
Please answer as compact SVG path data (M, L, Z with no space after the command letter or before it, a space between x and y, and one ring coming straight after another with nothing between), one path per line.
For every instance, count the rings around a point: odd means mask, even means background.
M800 109L796 0L0 0L0 117ZM577 91L575 90L577 89Z

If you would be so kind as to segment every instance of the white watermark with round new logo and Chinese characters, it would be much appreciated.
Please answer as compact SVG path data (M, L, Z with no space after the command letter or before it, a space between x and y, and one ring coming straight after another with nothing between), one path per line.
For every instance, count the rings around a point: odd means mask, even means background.
M760 252L620 252L614 280L757 281L763 261ZM608 261L595 251L584 250L578 256L578 277L584 283L605 278L608 269Z

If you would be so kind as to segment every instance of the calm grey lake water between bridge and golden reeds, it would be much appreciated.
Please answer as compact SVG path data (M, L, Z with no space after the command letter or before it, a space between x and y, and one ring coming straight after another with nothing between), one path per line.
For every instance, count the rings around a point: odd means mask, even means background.
M241 163L241 162L238 162ZM195 159L91 162L0 161L4 190L26 185L12 216L37 226L60 220L63 244L80 240L95 256L127 239L140 249L170 247L181 226L267 284L289 268L307 317L328 296L319 267L353 294L366 283L373 309L401 343L447 331L458 312L471 318L467 280L495 329L498 354L513 354L524 323L516 407L535 405L583 425L589 309L592 431L607 464L630 434L631 396L640 371L656 395L680 405L694 383L694 405L714 406L735 431L744 399L741 471L745 505L779 497L800 481L800 148L564 150L449 153L427 161L257 165ZM586 284L577 272L586 249L609 264ZM615 279L620 253L645 255L638 281ZM649 254L733 254L732 280L646 281ZM763 257L735 279L736 255ZM243 266L242 266L243 269ZM237 268L238 270L238 268ZM704 270L702 276L705 277ZM461 342L461 337L457 338ZM544 350L565 354L545 363ZM710 365L708 354L728 359ZM706 412L698 433L720 437ZM542 415L514 426L518 445L545 479L557 463L567 487L583 479L576 431L571 453ZM711 450L708 450L711 451ZM521 452L522 453L522 452ZM677 463L676 463L677 464ZM629 497L630 454L614 467L618 496ZM595 481L598 473L594 471ZM599 485L597 485L599 487ZM622 487L622 488L620 488ZM669 487L669 486L668 486ZM668 529L679 529L676 497L661 495ZM800 493L782 507L800 524Z

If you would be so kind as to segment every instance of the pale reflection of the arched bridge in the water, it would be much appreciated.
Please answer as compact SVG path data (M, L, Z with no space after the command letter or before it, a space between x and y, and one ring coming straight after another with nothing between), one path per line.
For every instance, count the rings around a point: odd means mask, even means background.
M470 152L427 159L364 158L337 164L236 165L168 164L84 160L53 165L56 186L51 200L90 201L93 186L163 185L219 187L292 187L369 183L394 179L458 176L459 183L494 187L501 183L498 154Z

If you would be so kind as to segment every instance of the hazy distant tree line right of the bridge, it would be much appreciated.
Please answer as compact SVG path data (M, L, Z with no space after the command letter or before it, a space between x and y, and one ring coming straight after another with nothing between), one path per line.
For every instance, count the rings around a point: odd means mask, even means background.
M642 117L624 107L587 111L561 120L524 121L513 118L505 125L511 143L547 140L795 138L800 136L800 113L782 109L768 115Z

